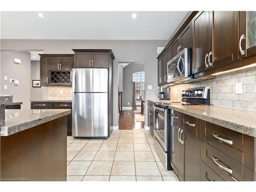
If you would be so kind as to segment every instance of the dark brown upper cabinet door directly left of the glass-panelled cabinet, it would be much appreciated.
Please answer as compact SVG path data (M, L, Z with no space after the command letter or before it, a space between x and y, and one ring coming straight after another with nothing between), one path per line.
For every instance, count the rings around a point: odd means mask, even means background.
M213 67L239 58L239 11L214 11L212 13L212 34Z

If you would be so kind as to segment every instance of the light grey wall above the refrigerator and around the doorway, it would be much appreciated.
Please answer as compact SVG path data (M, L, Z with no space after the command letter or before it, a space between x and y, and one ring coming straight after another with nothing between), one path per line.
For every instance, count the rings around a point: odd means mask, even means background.
M114 125L118 125L118 62L145 62L146 98L156 99L158 87L157 47L164 47L167 40L12 40L1 39L1 50L43 50L44 53L73 53L71 49L112 49L114 60ZM148 77L148 78L147 78ZM145 110L145 113L147 111ZM145 114L147 116L147 113ZM147 118L145 118L147 124Z

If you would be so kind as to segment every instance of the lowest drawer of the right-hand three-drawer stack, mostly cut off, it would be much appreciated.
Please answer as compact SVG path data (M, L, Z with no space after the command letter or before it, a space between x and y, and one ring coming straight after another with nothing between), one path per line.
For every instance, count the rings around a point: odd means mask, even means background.
M224 181L210 167L201 161L201 181Z

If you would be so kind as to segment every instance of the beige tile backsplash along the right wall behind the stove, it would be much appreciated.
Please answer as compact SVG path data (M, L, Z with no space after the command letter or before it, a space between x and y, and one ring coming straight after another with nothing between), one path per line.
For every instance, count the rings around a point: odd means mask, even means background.
M216 76L216 79L170 86L170 99L181 101L181 91L210 87L210 103L219 106L256 110L256 67ZM243 83L243 94L236 94L236 83Z

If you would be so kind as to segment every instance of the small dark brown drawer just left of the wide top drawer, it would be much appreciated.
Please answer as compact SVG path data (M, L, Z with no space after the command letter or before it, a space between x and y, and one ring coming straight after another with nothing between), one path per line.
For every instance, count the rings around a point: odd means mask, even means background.
M189 115L183 115L183 127L191 134L200 137L200 124L201 120Z

